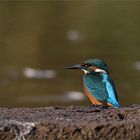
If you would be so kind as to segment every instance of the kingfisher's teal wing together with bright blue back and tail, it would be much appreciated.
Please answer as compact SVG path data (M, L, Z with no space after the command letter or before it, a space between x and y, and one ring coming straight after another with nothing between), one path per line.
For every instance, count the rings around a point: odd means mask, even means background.
M100 102L108 102L120 107L115 86L107 73L88 73L83 77L84 85L89 93Z

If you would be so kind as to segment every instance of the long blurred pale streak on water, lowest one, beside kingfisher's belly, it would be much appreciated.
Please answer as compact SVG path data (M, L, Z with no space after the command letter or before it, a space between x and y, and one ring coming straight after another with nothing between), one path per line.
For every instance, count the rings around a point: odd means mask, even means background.
M71 104L71 102L77 102L80 103L80 101L85 100L85 95L82 92L79 91L68 91L65 94L59 94L59 95L34 95L34 96L20 96L17 98L19 103L22 104L39 104L40 102L42 105L48 104L59 104L59 105L64 105L64 104Z

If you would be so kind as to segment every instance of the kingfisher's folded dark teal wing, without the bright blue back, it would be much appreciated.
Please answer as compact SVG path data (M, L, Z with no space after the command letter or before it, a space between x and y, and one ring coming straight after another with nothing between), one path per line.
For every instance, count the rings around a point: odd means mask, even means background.
M108 99L108 93L105 84L98 76L89 75L84 77L84 85L89 93L98 101L106 102Z

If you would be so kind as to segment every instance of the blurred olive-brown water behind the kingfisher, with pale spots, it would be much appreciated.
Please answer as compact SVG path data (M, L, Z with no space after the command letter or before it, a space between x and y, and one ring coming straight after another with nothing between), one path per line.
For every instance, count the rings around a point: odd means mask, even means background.
M89 105L83 73L63 68L89 58L140 103L139 1L0 2L0 106Z

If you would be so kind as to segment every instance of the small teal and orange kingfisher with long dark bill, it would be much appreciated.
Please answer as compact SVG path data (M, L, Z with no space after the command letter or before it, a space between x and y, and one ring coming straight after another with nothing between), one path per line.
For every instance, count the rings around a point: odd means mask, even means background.
M100 59L89 59L81 64L65 67L84 71L83 86L86 95L95 106L119 108L117 92L109 75L107 64Z

